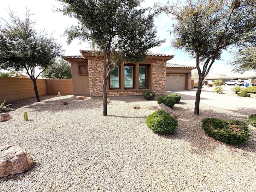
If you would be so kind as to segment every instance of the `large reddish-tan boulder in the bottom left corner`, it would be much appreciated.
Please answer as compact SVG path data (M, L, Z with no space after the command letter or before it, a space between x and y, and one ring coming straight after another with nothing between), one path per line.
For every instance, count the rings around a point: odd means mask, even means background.
M28 170L33 164L30 154L19 147L0 146L0 178Z

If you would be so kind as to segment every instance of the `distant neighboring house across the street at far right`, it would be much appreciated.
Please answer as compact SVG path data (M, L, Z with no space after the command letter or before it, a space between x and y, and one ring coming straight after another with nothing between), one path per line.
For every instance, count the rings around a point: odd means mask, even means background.
M230 80L244 80L244 82L252 83L256 81L256 73L244 74L208 74L205 78L208 83L212 84L213 80L221 79L223 82Z

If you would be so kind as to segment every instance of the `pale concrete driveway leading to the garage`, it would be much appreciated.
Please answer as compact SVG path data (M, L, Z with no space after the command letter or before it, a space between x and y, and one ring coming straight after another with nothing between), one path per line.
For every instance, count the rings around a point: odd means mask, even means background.
M230 90L232 86L223 86L223 88L223 94L217 94L213 92L214 87L203 86L200 95L200 103L208 104L210 106L218 106L246 115L256 114L256 94L251 94L250 98L238 97L237 94ZM168 91L166 92L166 95L174 92L180 94L184 100L195 100L196 90L197 89Z

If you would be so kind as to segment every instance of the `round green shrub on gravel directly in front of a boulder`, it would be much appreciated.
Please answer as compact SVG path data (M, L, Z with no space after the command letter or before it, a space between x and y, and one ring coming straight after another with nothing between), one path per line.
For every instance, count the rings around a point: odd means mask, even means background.
M160 110L146 118L147 126L156 133L170 134L176 130L178 121L169 113Z

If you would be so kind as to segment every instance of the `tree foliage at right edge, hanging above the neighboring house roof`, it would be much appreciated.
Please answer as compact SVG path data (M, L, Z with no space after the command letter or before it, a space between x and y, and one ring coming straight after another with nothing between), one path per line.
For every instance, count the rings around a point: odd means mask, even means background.
M230 65L234 67L234 72L243 73L251 70L256 72L256 46L241 48L236 52Z

